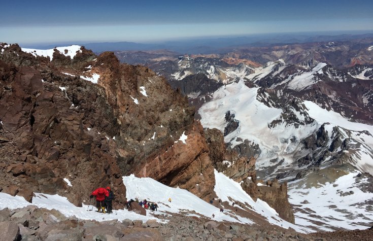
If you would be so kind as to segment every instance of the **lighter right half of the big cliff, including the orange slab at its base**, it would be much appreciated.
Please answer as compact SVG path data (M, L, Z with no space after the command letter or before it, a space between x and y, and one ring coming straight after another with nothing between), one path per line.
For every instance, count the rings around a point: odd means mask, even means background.
M102 73L98 84L116 107L123 175L151 177L201 198L211 195L215 179L209 148L187 99L148 68L120 64L112 52L101 54L96 65ZM182 133L186 144L178 141Z

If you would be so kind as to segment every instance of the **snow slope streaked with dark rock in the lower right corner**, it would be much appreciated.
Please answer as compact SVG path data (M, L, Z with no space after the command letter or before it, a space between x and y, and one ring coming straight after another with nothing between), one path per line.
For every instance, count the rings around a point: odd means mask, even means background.
M357 171L336 172L342 174L335 181L323 180L322 176L325 179L326 173L320 173L315 186L305 179L289 183L289 201L295 206L296 224L325 231L335 228L366 229L371 225L372 208L364 204L373 199L373 193L358 187L364 185L367 178L359 180Z

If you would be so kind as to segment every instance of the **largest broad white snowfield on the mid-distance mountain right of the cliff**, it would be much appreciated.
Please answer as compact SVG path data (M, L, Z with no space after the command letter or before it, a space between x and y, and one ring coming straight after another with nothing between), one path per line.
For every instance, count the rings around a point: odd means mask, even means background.
M301 148L299 140L317 129L316 122L300 128L283 122L270 128L270 123L281 118L283 110L268 107L259 101L258 89L247 87L244 80L221 87L213 94L212 100L199 109L201 124L224 132L227 125L225 113L230 111L240 122L239 128L224 137L224 141L229 143L231 148L249 140L258 144L261 150L257 167L274 165L276 163L270 160L275 158L284 159L284 165L292 165L294 155ZM300 113L296 114L300 119L304 118ZM296 140L290 141L293 136L297 137Z

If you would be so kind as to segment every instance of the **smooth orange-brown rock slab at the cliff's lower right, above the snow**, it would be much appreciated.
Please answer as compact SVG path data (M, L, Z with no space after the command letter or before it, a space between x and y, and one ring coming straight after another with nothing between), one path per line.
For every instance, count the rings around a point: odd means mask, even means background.
M148 159L145 165L138 166L135 174L179 186L207 200L212 195L215 176L202 126L196 122L185 134L185 144L177 141L154 159Z

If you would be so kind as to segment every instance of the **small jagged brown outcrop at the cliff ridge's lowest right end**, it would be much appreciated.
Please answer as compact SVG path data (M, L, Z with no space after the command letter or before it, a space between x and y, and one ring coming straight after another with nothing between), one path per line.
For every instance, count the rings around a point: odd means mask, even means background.
M273 182L267 181L266 185L258 186L256 182L246 179L241 186L254 200L259 198L265 201L279 213L282 219L295 223L294 214L287 197L286 182L280 185L279 181L275 179Z

